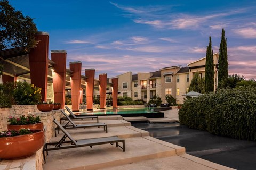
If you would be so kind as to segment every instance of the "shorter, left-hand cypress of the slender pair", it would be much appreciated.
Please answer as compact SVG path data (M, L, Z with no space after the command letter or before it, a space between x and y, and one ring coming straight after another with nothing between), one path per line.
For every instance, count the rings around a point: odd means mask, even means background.
M207 46L206 63L205 63L205 92L214 90L214 64L212 52L212 40L209 37L209 46Z

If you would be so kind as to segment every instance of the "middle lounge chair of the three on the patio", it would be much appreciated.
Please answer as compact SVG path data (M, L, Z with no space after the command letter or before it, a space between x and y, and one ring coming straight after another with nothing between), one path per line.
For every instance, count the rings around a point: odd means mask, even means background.
M74 129L74 128L92 128L92 127L98 127L100 128L101 126L103 126L104 131L106 131L106 133L108 133L108 126L105 123L88 123L88 124L75 124L75 122L73 122L71 120L71 118L64 112L61 111L61 113L67 118L68 122L63 125L63 128L65 129ZM71 125L69 125L69 123L71 123ZM57 126L55 128L55 137L57 136L56 131L58 131L59 134L59 127Z

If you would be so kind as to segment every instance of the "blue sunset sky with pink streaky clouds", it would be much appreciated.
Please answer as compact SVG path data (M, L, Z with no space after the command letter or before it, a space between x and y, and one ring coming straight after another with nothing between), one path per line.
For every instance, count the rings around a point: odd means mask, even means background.
M10 0L50 35L50 50L94 68L95 77L187 66L205 57L209 36L219 52L226 31L229 74L256 79L256 1ZM253 12L254 11L254 12ZM83 71L82 74L85 74Z

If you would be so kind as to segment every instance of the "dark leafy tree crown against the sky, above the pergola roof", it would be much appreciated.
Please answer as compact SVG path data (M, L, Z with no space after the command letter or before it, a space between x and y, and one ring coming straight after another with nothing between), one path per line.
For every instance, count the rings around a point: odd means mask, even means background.
M7 0L0 0L0 50L25 46L34 48L37 28L33 19L15 10Z

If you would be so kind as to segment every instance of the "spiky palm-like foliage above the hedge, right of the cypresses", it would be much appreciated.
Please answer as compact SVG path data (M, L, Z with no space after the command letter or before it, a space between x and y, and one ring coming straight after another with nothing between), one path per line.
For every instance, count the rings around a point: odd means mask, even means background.
M220 82L219 88L235 88L237 84L244 80L244 76L242 75L228 75L227 79L224 79Z

